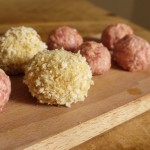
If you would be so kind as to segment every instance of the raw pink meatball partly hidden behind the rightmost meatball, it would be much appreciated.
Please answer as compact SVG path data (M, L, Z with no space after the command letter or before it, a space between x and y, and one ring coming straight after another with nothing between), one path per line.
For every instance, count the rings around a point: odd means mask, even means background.
M133 30L126 24L109 25L102 33L101 41L109 49L114 49L114 44L128 34L133 34Z

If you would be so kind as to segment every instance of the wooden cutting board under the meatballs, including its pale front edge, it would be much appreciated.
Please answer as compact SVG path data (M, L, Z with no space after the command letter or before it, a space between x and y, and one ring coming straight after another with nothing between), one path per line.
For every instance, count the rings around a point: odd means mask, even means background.
M22 79L11 77L12 95L0 113L1 150L69 149L150 109L150 68L131 73L112 66L71 108L36 103Z

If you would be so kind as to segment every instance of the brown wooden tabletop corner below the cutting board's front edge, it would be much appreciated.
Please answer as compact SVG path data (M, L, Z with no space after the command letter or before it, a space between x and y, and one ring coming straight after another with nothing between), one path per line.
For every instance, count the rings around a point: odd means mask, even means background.
M149 150L149 116L147 111L71 150Z

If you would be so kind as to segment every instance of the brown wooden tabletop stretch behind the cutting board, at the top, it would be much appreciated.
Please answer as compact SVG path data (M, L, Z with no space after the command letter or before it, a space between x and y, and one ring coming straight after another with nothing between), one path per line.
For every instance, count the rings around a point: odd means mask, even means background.
M81 7L82 6L82 7ZM109 14L88 0L0 1L0 23L94 21Z

